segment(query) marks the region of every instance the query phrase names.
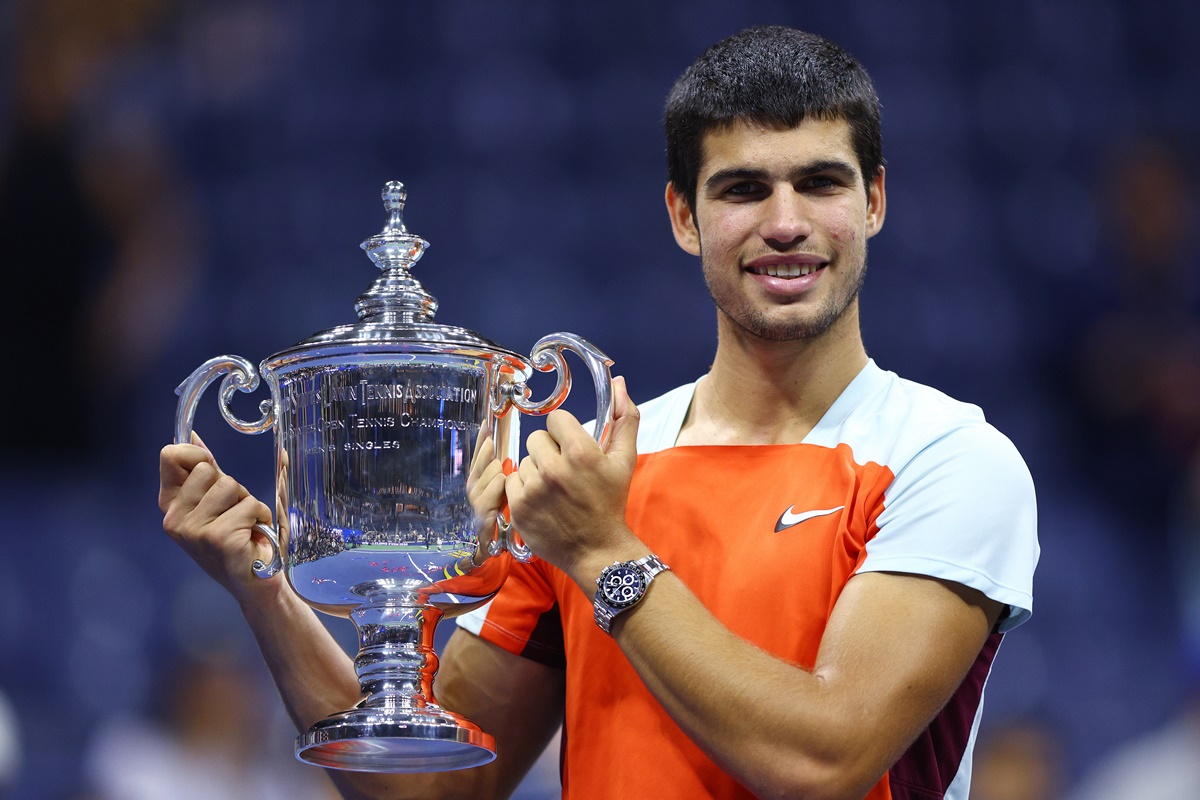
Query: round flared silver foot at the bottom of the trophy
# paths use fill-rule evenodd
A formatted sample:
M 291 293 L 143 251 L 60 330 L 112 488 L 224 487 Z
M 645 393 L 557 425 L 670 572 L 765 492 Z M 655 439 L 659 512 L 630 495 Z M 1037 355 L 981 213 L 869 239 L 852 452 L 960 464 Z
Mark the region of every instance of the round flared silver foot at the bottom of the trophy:
M 487 764 L 496 758 L 496 740 L 440 709 L 354 709 L 298 736 L 296 758 L 360 772 L 444 772 Z

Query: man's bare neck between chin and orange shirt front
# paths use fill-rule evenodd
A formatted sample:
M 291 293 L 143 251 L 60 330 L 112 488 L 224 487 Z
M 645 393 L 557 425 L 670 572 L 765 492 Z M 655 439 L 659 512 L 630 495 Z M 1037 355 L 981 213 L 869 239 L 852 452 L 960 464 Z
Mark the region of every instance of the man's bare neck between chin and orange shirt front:
M 857 313 L 822 336 L 773 342 L 721 319 L 679 445 L 798 444 L 866 366 Z

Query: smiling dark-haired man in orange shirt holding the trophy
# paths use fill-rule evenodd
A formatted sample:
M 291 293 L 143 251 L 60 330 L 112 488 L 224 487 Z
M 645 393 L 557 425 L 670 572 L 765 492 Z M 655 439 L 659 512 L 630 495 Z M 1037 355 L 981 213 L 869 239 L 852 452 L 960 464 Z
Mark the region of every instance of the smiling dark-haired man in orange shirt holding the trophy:
M 571 798 L 967 795 L 984 680 L 1032 608 L 1033 487 L 978 409 L 866 356 L 870 79 L 820 37 L 752 29 L 684 73 L 666 126 L 713 367 L 641 413 L 618 381 L 606 452 L 554 413 L 511 475 L 476 463 L 476 505 L 506 495 L 541 557 L 442 661 L 439 698 L 499 756 L 335 775 L 348 796 L 504 796 L 564 710 Z M 200 447 L 167 447 L 162 476 L 164 527 L 241 601 L 298 723 L 356 702 L 312 612 L 248 575 L 268 509 Z

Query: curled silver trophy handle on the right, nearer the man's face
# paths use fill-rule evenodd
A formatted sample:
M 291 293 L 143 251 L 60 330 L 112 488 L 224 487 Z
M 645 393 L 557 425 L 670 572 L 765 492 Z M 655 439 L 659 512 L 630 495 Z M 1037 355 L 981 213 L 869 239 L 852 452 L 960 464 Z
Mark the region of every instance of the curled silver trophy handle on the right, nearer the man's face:
M 538 339 L 538 343 L 533 347 L 533 353 L 529 354 L 529 362 L 538 372 L 556 371 L 558 373 L 558 383 L 554 385 L 554 391 L 550 393 L 550 397 L 540 403 L 529 402 L 530 391 L 524 381 L 516 383 L 510 390 L 512 404 L 522 413 L 534 416 L 550 414 L 563 404 L 563 401 L 566 399 L 566 396 L 571 391 L 571 369 L 563 357 L 563 350 L 570 350 L 583 359 L 588 372 L 592 373 L 592 383 L 596 392 L 596 420 L 592 428 L 592 435 L 601 450 L 607 450 L 608 441 L 612 439 L 612 372 L 608 369 L 612 366 L 612 359 L 581 336 L 576 336 L 575 333 L 550 333 Z M 505 519 L 503 513 L 497 522 L 500 527 L 502 541 L 505 542 L 509 552 L 512 553 L 512 558 L 518 561 L 532 560 L 533 551 L 521 541 L 521 535 L 512 527 L 512 523 Z

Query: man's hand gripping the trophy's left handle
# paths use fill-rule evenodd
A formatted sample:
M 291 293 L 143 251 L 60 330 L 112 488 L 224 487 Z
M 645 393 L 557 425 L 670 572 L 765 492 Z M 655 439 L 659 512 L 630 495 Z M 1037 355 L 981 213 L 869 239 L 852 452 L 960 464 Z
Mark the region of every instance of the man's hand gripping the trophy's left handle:
M 168 445 L 158 457 L 163 529 L 239 602 L 277 590 L 278 578 L 263 581 L 251 571 L 254 559 L 271 560 L 270 542 L 254 530 L 256 523 L 271 523 L 271 510 L 222 473 L 192 435 L 196 444 Z

